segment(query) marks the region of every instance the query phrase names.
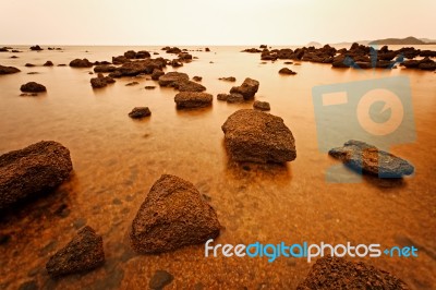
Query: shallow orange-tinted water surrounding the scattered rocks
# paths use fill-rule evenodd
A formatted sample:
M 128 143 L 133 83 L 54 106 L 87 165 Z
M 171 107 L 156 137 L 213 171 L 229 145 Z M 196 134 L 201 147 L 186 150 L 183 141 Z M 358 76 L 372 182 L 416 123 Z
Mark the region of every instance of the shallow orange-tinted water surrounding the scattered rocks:
M 177 111 L 175 92 L 159 88 L 146 77 L 117 80 L 93 90 L 89 69 L 41 67 L 47 60 L 57 65 L 85 57 L 110 61 L 111 56 L 129 49 L 157 51 L 170 58 L 160 47 L 22 49 L 25 52 L 0 53 L 0 64 L 22 70 L 0 76 L 0 154 L 41 140 L 58 141 L 70 149 L 74 173 L 55 193 L 3 215 L 0 233 L 11 239 L 0 245 L 0 289 L 15 289 L 28 280 L 44 289 L 144 288 L 157 269 L 174 276 L 168 289 L 293 289 L 304 279 L 311 267 L 305 259 L 279 257 L 268 263 L 266 258 L 205 258 L 203 245 L 160 255 L 133 253 L 131 222 L 162 173 L 190 180 L 210 197 L 225 227 L 217 243 L 413 243 L 420 247 L 417 258 L 382 256 L 365 261 L 403 279 L 412 289 L 436 289 L 435 73 L 402 68 L 362 73 L 308 62 L 263 64 L 259 55 L 241 53 L 241 47 L 192 52 L 198 60 L 177 71 L 203 76 L 202 84 L 215 96 L 229 92 L 246 76 L 258 80 L 256 98 L 269 101 L 271 113 L 281 117 L 293 132 L 298 150 L 294 161 L 286 167 L 250 165 L 246 170 L 229 161 L 220 126 L 228 116 L 251 108 L 251 104 L 228 105 L 214 99 L 209 109 Z M 10 59 L 12 55 L 19 59 Z M 27 62 L 38 67 L 25 68 Z M 282 67 L 298 75 L 279 75 Z M 218 80 L 231 75 L 237 83 Z M 415 174 L 403 181 L 365 177 L 360 183 L 327 182 L 327 168 L 338 162 L 318 148 L 312 88 L 389 76 L 407 76 L 411 83 L 416 140 L 391 146 L 390 152 L 411 161 Z M 20 86 L 29 81 L 46 85 L 48 93 L 19 97 Z M 125 86 L 132 81 L 140 85 Z M 146 90 L 146 85 L 157 87 Z M 148 106 L 152 117 L 130 119 L 128 113 L 136 106 Z M 347 122 L 355 112 L 341 113 Z M 353 129 L 340 133 L 344 142 L 353 135 Z M 86 275 L 51 280 L 45 264 L 83 225 L 102 234 L 106 265 Z

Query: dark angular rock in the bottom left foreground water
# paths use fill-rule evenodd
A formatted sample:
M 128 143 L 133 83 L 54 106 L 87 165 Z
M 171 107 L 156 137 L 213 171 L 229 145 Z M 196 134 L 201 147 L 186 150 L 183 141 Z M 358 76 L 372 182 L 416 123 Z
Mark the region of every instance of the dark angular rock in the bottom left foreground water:
M 46 265 L 51 277 L 84 273 L 105 264 L 102 238 L 86 226 L 73 240 L 50 257 Z

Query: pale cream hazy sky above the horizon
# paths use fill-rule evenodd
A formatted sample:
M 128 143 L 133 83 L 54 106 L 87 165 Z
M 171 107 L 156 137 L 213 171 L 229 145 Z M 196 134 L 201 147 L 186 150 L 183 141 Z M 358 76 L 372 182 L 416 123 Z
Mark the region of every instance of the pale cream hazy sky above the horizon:
M 436 0 L 0 0 L 2 45 L 305 45 L 436 38 Z

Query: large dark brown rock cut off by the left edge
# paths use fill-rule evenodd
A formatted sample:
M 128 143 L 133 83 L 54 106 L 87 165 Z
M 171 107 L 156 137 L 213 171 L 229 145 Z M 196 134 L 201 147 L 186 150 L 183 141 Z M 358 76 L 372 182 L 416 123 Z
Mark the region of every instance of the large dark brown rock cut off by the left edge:
M 70 150 L 43 141 L 0 156 L 0 208 L 60 185 L 70 177 Z

